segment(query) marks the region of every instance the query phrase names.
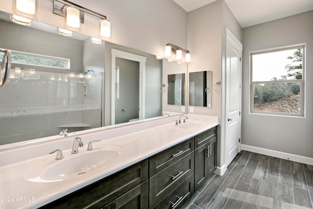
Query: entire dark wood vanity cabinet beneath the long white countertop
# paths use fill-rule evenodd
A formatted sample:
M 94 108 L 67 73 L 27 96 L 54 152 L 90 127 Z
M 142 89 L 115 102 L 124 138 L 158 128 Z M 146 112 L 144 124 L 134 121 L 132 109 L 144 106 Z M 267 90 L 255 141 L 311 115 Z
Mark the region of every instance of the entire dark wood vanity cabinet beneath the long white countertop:
M 209 129 L 43 209 L 179 209 L 217 165 L 217 128 Z

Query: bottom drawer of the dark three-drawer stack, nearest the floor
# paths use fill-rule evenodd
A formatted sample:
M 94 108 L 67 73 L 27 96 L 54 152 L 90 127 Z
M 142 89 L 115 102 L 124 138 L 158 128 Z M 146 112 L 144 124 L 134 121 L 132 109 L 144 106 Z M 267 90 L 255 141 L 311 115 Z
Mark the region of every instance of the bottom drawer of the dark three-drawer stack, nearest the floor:
M 179 209 L 194 193 L 194 175 L 190 175 L 153 209 Z

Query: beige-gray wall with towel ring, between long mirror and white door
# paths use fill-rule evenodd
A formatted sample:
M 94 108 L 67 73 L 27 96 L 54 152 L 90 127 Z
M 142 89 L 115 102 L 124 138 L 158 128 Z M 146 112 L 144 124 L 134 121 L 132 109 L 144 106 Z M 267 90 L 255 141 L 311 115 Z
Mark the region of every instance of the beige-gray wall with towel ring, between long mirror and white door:
M 212 85 L 223 81 L 225 55 L 225 27 L 228 27 L 239 41 L 243 41 L 240 24 L 224 0 L 217 0 L 188 13 L 188 49 L 192 54 L 189 72 L 212 70 Z M 223 90 L 224 91 L 224 90 Z M 212 92 L 212 107 L 194 107 L 194 113 L 219 116 L 218 166 L 225 163 L 225 140 L 222 126 L 222 93 Z

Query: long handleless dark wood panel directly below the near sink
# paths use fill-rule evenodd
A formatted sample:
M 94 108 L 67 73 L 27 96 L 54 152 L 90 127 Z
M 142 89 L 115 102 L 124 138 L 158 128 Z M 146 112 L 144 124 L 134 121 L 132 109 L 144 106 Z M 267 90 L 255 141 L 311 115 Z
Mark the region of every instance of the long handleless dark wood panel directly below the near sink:
M 68 194 L 42 208 L 102 208 L 148 179 L 148 160 Z

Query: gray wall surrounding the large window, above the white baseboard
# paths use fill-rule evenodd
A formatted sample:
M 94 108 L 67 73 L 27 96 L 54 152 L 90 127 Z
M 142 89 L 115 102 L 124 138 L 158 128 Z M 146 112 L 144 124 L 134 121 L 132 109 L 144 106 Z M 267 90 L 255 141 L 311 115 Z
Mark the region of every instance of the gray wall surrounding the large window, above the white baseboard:
M 244 28 L 242 144 L 313 158 L 313 11 Z M 249 113 L 249 53 L 306 45 L 305 117 Z

